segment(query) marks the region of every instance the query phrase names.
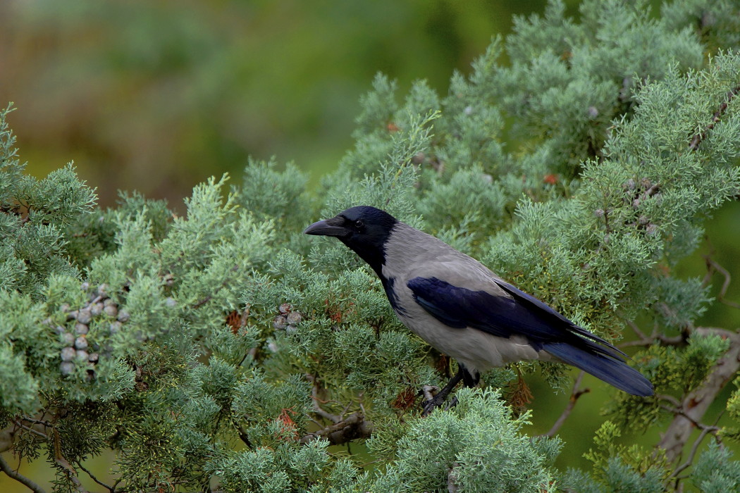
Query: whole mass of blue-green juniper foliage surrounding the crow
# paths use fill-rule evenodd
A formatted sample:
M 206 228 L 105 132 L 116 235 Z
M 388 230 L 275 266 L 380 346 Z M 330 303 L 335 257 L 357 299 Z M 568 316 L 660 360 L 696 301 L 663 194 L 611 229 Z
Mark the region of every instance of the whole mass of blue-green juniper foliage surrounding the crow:
M 28 177 L 0 112 L 0 423 L 51 437 L 22 432 L 13 451 L 45 449 L 71 487 L 60 457 L 79 466 L 110 446 L 131 491 L 214 478 L 233 492 L 675 484 L 676 464 L 625 446 L 622 429 L 672 417 L 665 403 L 702 386 L 727 340 L 693 333 L 636 353 L 662 397 L 615 391 L 593 474 L 562 475 L 561 441 L 529 438 L 528 415 L 499 392 L 460 390 L 450 412 L 420 418 L 418 391 L 444 383 L 447 361 L 400 325 L 360 259 L 301 231 L 374 205 L 608 339 L 637 316 L 656 340 L 689 333 L 710 298 L 673 268 L 740 190 L 737 10 L 696 0 L 653 18 L 644 2 L 586 1 L 576 22 L 552 1 L 454 74 L 448 95 L 420 81 L 400 98 L 378 75 L 354 148 L 316 190 L 295 166 L 253 160 L 228 190 L 227 177 L 196 186 L 181 217 L 139 194 L 99 210 L 70 166 Z M 517 369 L 537 368 L 566 384 L 556 364 Z M 41 411 L 51 417 L 36 423 Z M 350 416 L 369 456 L 314 439 Z M 710 447 L 692 480 L 731 491 L 736 465 Z

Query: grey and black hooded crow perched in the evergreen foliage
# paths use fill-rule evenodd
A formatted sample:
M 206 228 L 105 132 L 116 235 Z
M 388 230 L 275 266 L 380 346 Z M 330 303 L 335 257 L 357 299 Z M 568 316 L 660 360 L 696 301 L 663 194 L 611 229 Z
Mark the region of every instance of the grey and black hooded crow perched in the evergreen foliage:
M 400 322 L 457 360 L 457 373 L 423 403 L 423 415 L 460 381 L 476 387 L 482 373 L 522 360 L 570 364 L 631 395 L 653 395 L 653 384 L 613 344 L 386 211 L 357 205 L 303 233 L 335 237 L 354 251 L 380 278 Z

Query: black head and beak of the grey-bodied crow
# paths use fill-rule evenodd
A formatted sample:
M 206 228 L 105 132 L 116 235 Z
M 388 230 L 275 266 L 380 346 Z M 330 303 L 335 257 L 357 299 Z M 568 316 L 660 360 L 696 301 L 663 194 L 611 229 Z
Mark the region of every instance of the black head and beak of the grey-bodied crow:
M 332 219 L 314 222 L 303 233 L 337 237 L 382 276 L 380 268 L 385 263 L 384 245 L 397 222 L 386 211 L 369 205 L 357 205 Z

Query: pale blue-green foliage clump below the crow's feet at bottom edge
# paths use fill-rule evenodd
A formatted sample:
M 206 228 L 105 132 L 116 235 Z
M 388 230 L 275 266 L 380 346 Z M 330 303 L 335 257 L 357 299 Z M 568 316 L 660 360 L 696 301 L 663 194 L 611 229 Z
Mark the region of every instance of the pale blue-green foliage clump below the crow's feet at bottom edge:
M 460 404 L 450 412 L 415 421 L 397 443 L 397 459 L 369 491 L 555 491 L 550 467 L 559 441 L 522 435 L 527 416 L 513 418 L 500 397 L 460 390 Z

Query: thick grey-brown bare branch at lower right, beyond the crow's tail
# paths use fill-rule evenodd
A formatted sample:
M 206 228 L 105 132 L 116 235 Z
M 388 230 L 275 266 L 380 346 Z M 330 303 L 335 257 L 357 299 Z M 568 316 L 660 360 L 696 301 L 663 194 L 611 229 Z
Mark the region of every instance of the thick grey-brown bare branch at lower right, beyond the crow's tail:
M 666 458 L 670 461 L 679 458 L 696 424 L 702 421 L 710 404 L 740 369 L 740 334 L 714 327 L 699 327 L 696 332 L 722 336 L 730 341 L 730 347 L 716 362 L 704 384 L 689 392 L 679 403 L 678 409 L 673 409 L 676 416 L 657 445 L 665 450 Z

